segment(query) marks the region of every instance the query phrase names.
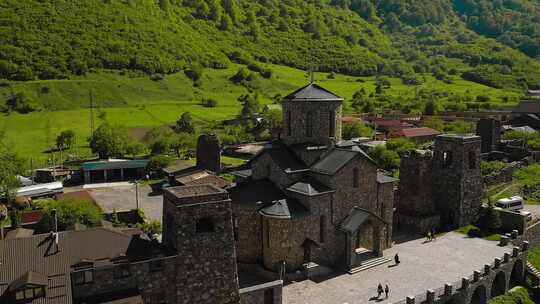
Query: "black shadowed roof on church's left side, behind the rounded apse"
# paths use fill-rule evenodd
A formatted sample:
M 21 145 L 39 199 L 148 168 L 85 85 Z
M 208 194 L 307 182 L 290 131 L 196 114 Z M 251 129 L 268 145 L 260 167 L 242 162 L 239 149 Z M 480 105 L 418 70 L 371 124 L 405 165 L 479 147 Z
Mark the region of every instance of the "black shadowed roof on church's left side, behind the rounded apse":
M 267 179 L 249 180 L 237 184 L 228 191 L 233 204 L 254 207 L 262 207 L 263 203 L 271 203 L 285 198 L 285 194 Z

